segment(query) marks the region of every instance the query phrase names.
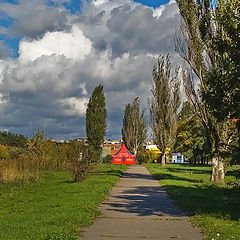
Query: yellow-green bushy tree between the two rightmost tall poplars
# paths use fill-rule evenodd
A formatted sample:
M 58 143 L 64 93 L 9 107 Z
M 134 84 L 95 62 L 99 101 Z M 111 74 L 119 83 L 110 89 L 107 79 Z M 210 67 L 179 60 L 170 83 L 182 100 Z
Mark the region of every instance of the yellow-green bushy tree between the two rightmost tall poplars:
M 205 129 L 188 101 L 183 103 L 177 123 L 176 152 L 181 152 L 190 161 L 210 154 Z

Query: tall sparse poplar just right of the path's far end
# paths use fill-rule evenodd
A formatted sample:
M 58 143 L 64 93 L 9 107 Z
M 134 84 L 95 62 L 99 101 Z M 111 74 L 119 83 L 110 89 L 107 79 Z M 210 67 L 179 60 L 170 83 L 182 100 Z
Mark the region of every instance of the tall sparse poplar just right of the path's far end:
M 153 68 L 153 88 L 150 99 L 150 118 L 154 141 L 162 151 L 165 165 L 167 148 L 172 149 L 176 141 L 177 110 L 180 105 L 178 70 L 171 76 L 170 57 L 160 56 Z

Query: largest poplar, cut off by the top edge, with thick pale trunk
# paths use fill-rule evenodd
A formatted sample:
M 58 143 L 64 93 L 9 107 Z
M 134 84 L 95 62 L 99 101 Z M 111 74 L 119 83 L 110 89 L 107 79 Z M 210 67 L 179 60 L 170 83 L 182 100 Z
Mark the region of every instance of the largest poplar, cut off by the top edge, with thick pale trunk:
M 223 182 L 225 163 L 240 149 L 240 1 L 176 2 L 182 16 L 176 50 L 186 63 L 185 92 L 211 143 L 211 179 Z

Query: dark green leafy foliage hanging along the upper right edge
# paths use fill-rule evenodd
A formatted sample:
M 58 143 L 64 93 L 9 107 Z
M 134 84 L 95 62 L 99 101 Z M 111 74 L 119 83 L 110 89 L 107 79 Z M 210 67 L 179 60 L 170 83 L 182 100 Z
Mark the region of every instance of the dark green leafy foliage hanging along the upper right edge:
M 217 4 L 207 21 L 218 27 L 204 34 L 205 44 L 211 42 L 217 56 L 205 73 L 204 99 L 215 118 L 223 121 L 229 115 L 240 117 L 240 2 L 218 0 Z

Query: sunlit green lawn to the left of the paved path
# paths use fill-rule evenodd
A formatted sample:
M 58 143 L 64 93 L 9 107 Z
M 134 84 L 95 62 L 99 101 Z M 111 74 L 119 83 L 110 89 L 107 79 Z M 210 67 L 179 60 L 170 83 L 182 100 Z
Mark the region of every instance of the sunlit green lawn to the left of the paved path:
M 82 183 L 69 172 L 48 171 L 25 185 L 0 184 L 0 240 L 77 239 L 125 169 L 100 165 Z

